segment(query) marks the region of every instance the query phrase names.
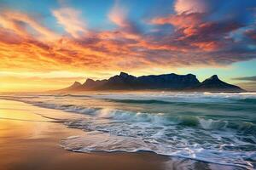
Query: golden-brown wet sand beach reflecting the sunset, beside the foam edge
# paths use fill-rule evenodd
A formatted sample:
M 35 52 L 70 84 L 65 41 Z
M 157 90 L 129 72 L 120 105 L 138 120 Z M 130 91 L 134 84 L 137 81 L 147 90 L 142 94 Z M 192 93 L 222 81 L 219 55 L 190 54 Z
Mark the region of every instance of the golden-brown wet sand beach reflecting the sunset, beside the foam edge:
M 65 127 L 40 113 L 67 113 L 16 101 L 0 100 L 0 170 L 43 169 L 232 169 L 201 161 L 158 156 L 154 153 L 76 153 L 61 148 L 60 140 L 85 133 Z M 70 113 L 68 113 L 70 114 Z

